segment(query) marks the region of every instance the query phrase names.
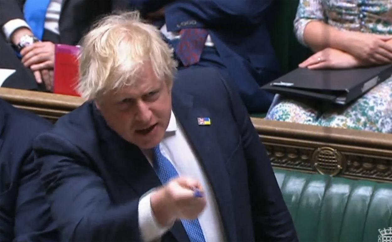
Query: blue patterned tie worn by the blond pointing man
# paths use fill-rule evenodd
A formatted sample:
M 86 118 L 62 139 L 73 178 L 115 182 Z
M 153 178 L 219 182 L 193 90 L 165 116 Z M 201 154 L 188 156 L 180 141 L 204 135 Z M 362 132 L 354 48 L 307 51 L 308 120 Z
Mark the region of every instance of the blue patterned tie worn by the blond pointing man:
M 153 151 L 155 156 L 155 163 L 153 167 L 162 184 L 166 184 L 171 179 L 178 177 L 176 168 L 174 168 L 169 159 L 162 155 L 159 145 L 154 147 Z M 181 219 L 181 223 L 184 226 L 191 242 L 205 242 L 203 230 L 201 230 L 198 219 Z

